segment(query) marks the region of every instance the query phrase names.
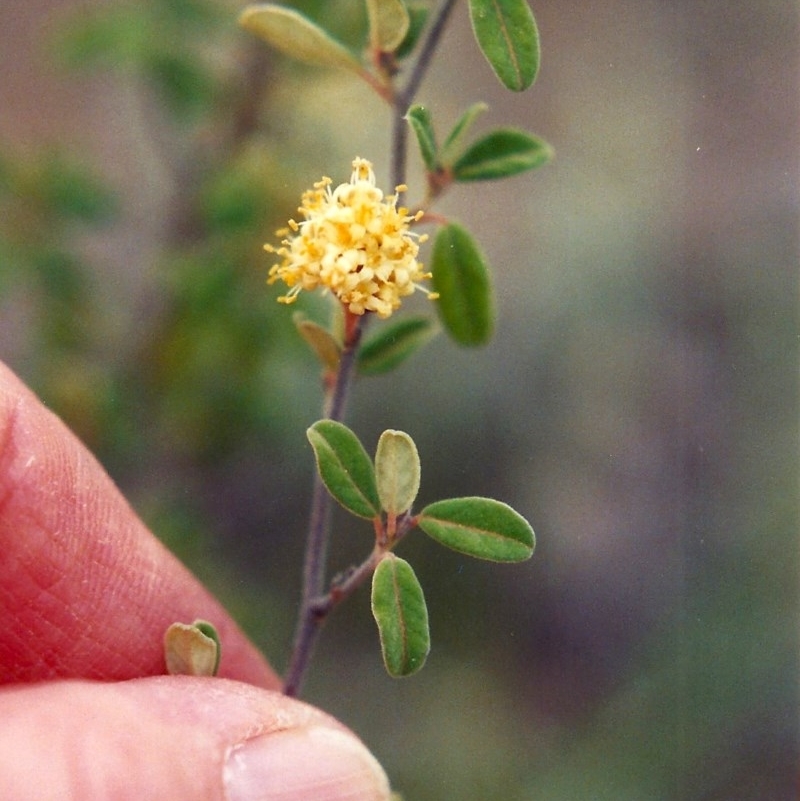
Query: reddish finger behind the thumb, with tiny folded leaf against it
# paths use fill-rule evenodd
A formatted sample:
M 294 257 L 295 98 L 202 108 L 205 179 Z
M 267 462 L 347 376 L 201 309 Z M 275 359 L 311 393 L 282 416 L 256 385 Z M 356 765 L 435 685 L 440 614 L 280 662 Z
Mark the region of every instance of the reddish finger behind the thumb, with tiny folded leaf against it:
M 147 530 L 97 460 L 0 363 L 0 684 L 164 672 L 163 636 L 207 619 L 220 674 L 280 681 Z

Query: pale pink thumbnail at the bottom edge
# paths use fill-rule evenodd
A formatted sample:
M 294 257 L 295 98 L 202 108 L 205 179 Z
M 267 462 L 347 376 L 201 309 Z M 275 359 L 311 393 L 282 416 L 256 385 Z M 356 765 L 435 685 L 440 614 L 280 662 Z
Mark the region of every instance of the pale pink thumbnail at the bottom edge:
M 336 729 L 262 734 L 236 746 L 225 763 L 228 801 L 388 801 L 375 757 Z

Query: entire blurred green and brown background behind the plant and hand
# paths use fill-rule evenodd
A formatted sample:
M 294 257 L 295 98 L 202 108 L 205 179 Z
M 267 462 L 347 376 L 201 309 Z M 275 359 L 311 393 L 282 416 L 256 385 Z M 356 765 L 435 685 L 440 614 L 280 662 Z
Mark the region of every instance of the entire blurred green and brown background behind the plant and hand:
M 302 7 L 359 41 L 355 0 Z M 306 697 L 408 801 L 795 798 L 798 7 L 533 8 L 531 90 L 499 87 L 461 4 L 419 97 L 441 130 L 486 100 L 487 127 L 556 148 L 441 207 L 494 266 L 497 336 L 364 380 L 350 421 L 370 445 L 408 431 L 422 502 L 501 498 L 537 552 L 484 565 L 413 537 L 425 670 L 385 675 L 361 592 Z M 238 10 L 4 5 L 0 356 L 281 669 L 319 370 L 261 244 L 356 155 L 390 188 L 388 113 Z M 337 520 L 334 569 L 371 537 Z

